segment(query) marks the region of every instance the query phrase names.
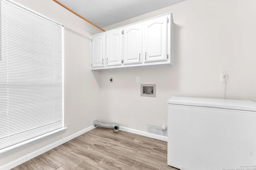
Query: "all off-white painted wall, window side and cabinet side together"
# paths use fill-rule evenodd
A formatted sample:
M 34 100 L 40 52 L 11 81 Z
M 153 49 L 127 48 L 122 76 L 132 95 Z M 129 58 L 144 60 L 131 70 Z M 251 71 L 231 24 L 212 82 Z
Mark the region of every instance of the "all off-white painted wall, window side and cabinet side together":
M 100 32 L 52 0 L 15 0 L 64 25 L 65 125 L 58 135 L 0 156 L 4 164 L 92 125 L 94 119 L 146 131 L 167 124 L 171 96 L 222 98 L 220 73 L 229 74 L 227 98 L 256 102 L 256 2 L 187 0 L 110 29 L 173 12 L 174 66 L 90 71 L 90 35 Z M 142 84 L 156 84 L 156 98 L 140 97 Z M 109 78 L 113 77 L 113 83 Z

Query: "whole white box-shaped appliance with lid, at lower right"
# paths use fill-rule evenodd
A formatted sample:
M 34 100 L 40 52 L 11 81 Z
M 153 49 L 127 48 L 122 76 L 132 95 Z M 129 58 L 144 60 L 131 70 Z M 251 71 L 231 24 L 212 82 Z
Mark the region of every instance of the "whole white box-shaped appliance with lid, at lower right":
M 170 98 L 168 165 L 181 170 L 256 170 L 256 103 Z

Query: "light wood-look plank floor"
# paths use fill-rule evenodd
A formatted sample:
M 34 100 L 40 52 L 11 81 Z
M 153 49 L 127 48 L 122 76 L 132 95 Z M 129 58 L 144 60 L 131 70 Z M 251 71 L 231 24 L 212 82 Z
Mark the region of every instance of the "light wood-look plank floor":
M 178 170 L 167 165 L 167 142 L 97 127 L 13 170 Z

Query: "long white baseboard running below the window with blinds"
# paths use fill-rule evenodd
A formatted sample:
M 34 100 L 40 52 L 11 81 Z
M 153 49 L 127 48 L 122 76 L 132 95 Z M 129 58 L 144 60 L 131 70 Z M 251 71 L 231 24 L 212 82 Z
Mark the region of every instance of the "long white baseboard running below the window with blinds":
M 63 143 L 66 143 L 67 141 L 70 141 L 71 139 L 74 139 L 75 137 L 78 137 L 78 136 L 82 135 L 83 133 L 86 133 L 94 128 L 95 128 L 94 126 L 87 127 L 86 129 L 83 129 L 82 131 L 79 131 L 77 133 L 74 133 L 73 135 L 65 137 L 64 139 L 61 139 L 60 141 L 57 141 L 57 142 L 52 143 L 46 147 L 38 149 L 30 154 L 22 156 L 21 158 L 18 158 L 8 164 L 5 164 L 4 166 L 0 166 L 0 170 L 10 170 L 11 168 L 14 168 L 20 164 L 23 164 L 24 162 L 26 162 L 40 154 L 43 154 L 44 152 L 47 152 L 48 150 L 54 149 L 55 147 L 58 147 L 59 145 L 62 145 Z

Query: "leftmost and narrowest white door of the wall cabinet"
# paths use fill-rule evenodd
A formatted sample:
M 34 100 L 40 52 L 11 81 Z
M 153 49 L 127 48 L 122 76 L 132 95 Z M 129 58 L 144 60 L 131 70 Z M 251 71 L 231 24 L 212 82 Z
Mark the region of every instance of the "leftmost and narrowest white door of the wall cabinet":
M 105 35 L 92 38 L 92 67 L 105 66 Z

